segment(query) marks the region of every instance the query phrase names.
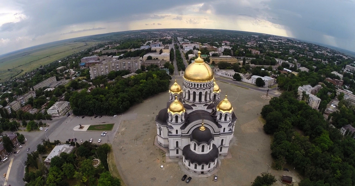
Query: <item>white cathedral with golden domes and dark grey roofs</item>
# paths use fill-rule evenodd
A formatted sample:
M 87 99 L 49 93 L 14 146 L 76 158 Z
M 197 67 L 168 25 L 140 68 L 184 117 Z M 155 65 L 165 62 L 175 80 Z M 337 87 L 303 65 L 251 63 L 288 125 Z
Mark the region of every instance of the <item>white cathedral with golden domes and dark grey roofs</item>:
M 206 174 L 217 166 L 219 156 L 228 154 L 236 119 L 198 52 L 185 70 L 182 88 L 175 80 L 166 108 L 155 117 L 158 145 L 169 149 L 170 159 L 182 158 L 187 170 Z

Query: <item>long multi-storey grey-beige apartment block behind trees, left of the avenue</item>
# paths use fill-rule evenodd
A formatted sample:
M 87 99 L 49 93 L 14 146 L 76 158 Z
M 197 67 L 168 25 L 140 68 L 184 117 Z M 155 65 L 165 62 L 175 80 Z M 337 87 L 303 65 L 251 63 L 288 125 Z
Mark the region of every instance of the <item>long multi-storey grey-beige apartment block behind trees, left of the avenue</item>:
M 128 70 L 136 72 L 138 69 L 141 69 L 140 57 L 122 58 L 90 66 L 90 77 L 94 79 L 100 75 L 107 75 L 111 71 Z

